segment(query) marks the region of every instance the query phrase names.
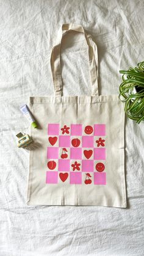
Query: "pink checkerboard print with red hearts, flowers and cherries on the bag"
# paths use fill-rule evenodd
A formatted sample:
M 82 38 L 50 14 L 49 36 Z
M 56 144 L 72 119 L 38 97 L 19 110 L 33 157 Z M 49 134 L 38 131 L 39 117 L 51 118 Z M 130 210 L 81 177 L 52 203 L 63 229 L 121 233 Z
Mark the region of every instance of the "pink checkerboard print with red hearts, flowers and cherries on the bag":
M 106 185 L 106 125 L 48 124 L 46 183 Z

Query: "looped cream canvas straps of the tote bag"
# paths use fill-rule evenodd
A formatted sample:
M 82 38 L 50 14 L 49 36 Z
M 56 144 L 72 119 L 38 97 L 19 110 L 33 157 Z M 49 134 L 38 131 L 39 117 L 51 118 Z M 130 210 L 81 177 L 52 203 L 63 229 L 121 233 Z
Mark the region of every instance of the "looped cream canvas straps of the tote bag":
M 77 24 L 63 24 L 58 32 L 56 46 L 51 52 L 51 71 L 54 83 L 54 91 L 56 96 L 62 96 L 62 71 L 60 65 L 60 48 L 63 35 L 70 31 L 77 31 L 84 34 L 88 45 L 90 76 L 92 81 L 92 96 L 98 95 L 98 52 L 95 42 L 91 35 L 87 35 L 84 28 Z

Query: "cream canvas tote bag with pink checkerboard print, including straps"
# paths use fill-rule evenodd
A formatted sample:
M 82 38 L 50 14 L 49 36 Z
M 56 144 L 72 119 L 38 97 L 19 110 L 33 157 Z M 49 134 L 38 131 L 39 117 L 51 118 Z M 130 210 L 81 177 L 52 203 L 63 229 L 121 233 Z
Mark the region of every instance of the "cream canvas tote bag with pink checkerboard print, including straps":
M 62 93 L 60 47 L 71 31 L 87 44 L 92 96 Z M 31 136 L 39 147 L 30 152 L 27 205 L 125 208 L 124 105 L 118 95 L 99 95 L 96 44 L 81 25 L 60 27 L 51 70 L 55 95 L 29 101 L 39 125 Z

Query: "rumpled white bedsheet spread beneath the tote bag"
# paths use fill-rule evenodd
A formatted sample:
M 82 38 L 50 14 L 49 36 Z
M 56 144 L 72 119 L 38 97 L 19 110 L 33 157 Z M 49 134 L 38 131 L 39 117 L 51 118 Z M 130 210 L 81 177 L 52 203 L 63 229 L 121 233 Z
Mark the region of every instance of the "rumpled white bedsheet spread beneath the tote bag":
M 143 12 L 142 0 L 0 1 L 1 256 L 144 255 L 144 123 L 126 119 L 126 209 L 27 206 L 29 152 L 15 144 L 16 133 L 29 132 L 21 103 L 53 93 L 49 59 L 60 25 L 79 23 L 93 35 L 100 93 L 114 94 L 118 71 L 144 60 Z M 90 94 L 87 58 L 77 57 L 85 67 L 71 65 L 67 52 L 65 95 Z

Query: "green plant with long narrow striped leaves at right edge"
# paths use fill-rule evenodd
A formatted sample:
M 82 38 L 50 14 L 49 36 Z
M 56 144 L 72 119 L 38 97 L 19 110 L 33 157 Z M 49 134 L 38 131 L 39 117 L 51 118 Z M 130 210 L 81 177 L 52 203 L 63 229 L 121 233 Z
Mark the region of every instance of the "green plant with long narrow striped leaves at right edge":
M 126 115 L 140 123 L 144 120 L 144 62 L 129 70 L 120 70 L 123 82 L 120 84 L 121 101 L 125 102 Z

